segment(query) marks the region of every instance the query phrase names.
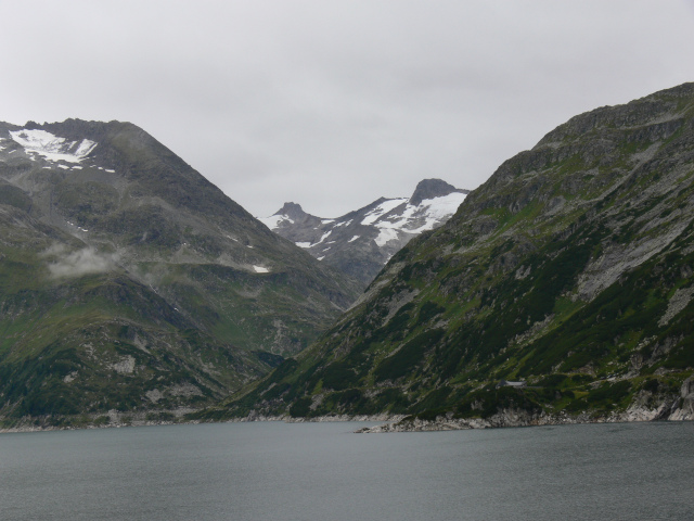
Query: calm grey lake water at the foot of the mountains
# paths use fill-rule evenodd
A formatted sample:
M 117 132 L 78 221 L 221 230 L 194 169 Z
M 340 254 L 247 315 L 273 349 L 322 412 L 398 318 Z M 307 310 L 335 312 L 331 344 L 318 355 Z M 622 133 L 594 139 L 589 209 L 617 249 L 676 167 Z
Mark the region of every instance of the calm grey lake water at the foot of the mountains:
M 0 435 L 3 520 L 694 519 L 694 423 L 351 434 L 226 423 Z

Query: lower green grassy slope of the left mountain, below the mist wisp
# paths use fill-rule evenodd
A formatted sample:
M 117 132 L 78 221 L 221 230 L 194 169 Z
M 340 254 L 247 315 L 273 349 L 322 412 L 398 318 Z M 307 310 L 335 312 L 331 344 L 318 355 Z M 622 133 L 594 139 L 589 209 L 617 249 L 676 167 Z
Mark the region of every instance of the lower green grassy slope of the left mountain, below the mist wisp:
M 267 361 L 198 330 L 121 269 L 52 277 L 40 252 L 61 236 L 46 236 L 46 227 L 26 214 L 2 206 L 0 227 L 5 423 L 26 416 L 200 406 L 267 371 Z M 158 393 L 154 402 L 147 392 Z

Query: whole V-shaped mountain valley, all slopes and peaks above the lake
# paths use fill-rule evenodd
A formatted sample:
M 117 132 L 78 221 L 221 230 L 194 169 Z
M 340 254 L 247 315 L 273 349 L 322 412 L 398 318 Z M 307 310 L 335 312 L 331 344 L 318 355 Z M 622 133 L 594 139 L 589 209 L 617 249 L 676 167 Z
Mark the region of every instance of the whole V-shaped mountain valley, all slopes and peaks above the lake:
M 133 125 L 0 124 L 2 427 L 694 419 L 694 84 L 262 221 Z

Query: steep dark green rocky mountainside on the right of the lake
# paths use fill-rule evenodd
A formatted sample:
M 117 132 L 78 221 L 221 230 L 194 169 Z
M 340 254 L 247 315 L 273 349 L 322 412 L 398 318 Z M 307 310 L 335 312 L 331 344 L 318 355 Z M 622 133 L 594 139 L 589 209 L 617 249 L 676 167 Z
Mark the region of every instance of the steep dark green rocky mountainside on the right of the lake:
M 694 84 L 576 116 L 209 417 L 694 418 Z

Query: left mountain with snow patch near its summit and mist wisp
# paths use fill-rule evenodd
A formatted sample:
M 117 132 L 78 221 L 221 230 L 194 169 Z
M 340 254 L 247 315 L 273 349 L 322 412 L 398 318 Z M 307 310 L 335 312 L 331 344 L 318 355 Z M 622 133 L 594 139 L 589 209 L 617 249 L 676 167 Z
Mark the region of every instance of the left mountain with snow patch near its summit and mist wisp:
M 0 259 L 5 423 L 209 404 L 358 294 L 119 122 L 0 123 Z

